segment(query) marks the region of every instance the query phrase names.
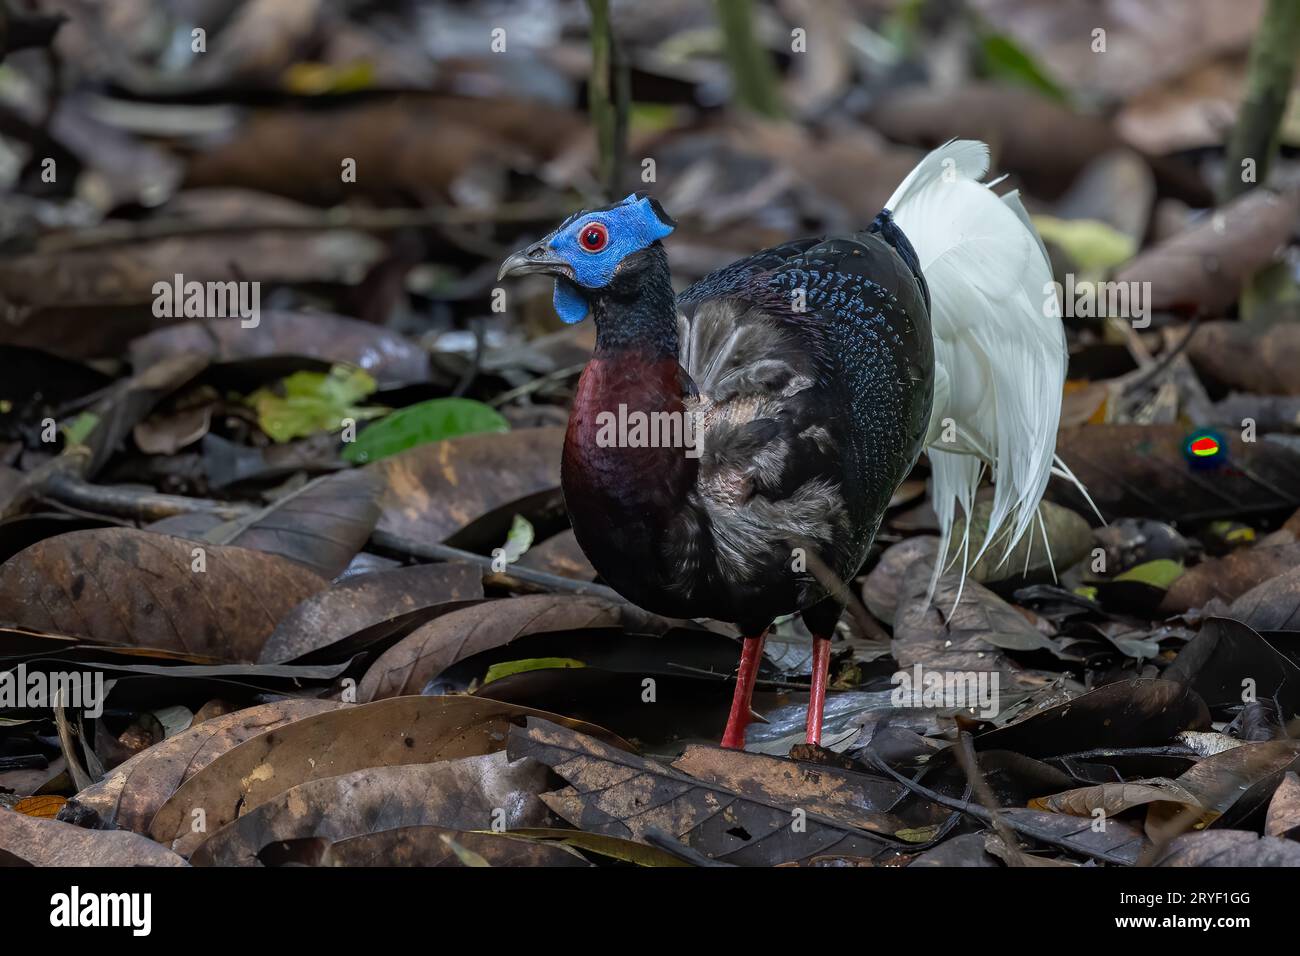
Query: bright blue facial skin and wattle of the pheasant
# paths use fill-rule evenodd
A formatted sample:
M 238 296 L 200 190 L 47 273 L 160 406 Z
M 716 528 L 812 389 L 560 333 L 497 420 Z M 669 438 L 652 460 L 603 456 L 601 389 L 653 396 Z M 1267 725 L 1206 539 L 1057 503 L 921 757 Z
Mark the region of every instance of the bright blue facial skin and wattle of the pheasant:
M 608 242 L 599 252 L 589 252 L 580 245 L 582 230 L 592 222 L 601 222 Z M 601 289 L 614 278 L 619 263 L 672 232 L 672 226 L 655 213 L 649 198 L 632 194 L 610 209 L 575 216 L 556 229 L 547 246 L 573 267 L 573 281 L 555 281 L 555 311 L 566 323 L 578 323 L 586 317 L 585 289 Z

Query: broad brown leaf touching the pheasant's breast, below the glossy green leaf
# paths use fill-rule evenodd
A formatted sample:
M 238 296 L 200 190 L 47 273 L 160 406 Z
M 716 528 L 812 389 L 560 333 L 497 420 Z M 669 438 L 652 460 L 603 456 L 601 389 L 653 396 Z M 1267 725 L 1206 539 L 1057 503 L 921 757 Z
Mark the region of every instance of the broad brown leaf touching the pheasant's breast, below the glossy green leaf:
M 563 428 L 467 434 L 365 466 L 384 479 L 377 528 L 443 541 L 494 509 L 560 484 Z

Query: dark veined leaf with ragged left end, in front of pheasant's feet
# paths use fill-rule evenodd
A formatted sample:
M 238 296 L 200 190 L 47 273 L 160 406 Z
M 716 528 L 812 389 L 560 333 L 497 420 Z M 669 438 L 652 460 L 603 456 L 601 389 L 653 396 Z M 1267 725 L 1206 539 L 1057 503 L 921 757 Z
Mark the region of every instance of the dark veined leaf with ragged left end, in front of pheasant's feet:
M 792 806 L 696 780 L 645 757 L 549 721 L 510 731 L 511 757 L 533 757 L 571 786 L 543 793 L 555 813 L 581 830 L 646 842 L 667 832 L 715 860 L 771 865 L 836 853 L 878 856 L 889 844 L 871 832 Z

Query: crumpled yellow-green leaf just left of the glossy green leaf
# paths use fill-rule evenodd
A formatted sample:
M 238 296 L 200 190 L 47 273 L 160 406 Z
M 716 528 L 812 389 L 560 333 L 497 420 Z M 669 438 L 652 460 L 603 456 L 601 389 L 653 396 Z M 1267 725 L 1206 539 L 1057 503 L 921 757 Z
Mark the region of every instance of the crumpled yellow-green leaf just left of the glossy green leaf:
M 244 402 L 257 411 L 257 424 L 272 441 L 286 442 L 334 432 L 344 419 L 373 419 L 387 408 L 356 405 L 376 389 L 374 378 L 351 365 L 329 375 L 294 372 L 273 389 L 257 389 Z

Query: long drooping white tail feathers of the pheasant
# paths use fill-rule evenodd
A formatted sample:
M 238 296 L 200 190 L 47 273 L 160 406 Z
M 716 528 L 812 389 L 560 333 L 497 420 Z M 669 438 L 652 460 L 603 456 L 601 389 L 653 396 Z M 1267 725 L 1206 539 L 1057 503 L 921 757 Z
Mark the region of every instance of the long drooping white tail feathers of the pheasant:
M 980 182 L 987 172 L 984 143 L 952 140 L 911 170 L 887 207 L 930 286 L 935 408 L 926 446 L 940 555 L 957 509 L 967 518 L 950 562 L 959 555 L 963 579 L 994 541 L 1005 540 L 1005 561 L 1030 532 L 1054 463 L 1078 484 L 1056 459 L 1066 342 L 1060 311 L 1046 307 L 1054 294 L 1046 250 L 1019 196 Z M 985 467 L 993 507 L 971 557 L 968 519 Z

